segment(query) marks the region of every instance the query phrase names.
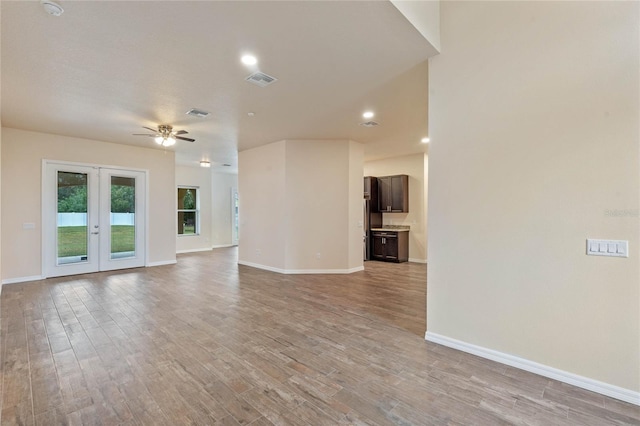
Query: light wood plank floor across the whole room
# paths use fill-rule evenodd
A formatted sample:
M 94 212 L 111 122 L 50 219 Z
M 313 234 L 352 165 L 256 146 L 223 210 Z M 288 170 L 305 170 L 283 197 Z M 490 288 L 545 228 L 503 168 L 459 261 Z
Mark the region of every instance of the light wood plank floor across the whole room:
M 286 276 L 235 249 L 6 285 L 1 423 L 640 424 L 640 408 L 427 343 L 425 265 Z

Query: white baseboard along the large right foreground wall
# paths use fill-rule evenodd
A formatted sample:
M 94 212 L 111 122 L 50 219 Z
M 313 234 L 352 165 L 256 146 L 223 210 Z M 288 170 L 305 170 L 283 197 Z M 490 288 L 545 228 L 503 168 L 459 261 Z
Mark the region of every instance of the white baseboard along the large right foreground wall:
M 429 331 L 425 333 L 424 338 L 429 342 L 438 343 L 443 346 L 458 349 L 462 352 L 467 352 L 482 358 L 510 365 L 511 367 L 516 367 L 521 370 L 539 374 L 541 376 L 558 380 L 563 383 L 568 383 L 582 389 L 587 389 L 592 392 L 610 396 L 611 398 L 619 399 L 630 404 L 640 405 L 640 392 L 621 388 L 615 385 L 610 385 L 608 383 L 600 382 L 598 380 L 590 379 L 588 377 L 580 376 L 568 371 L 549 367 L 548 365 L 539 364 L 528 359 L 505 354 L 493 349 L 484 348 L 482 346 L 476 346 L 470 343 L 463 342 L 461 340 L 456 340 L 450 337 L 442 336 L 440 334 L 431 333 Z

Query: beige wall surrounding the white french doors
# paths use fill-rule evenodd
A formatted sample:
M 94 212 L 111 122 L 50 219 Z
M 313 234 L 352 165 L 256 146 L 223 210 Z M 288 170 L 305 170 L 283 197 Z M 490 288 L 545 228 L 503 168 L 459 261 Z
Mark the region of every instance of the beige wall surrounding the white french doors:
M 150 264 L 175 261 L 173 152 L 2 128 L 2 279 L 37 277 L 41 260 L 42 160 L 148 170 Z M 35 229 L 23 229 L 35 223 Z

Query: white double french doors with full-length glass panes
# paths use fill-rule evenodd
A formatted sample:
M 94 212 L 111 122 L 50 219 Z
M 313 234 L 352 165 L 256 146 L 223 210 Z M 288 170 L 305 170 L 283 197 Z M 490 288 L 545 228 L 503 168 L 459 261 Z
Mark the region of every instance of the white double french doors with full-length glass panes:
M 45 161 L 46 277 L 145 265 L 146 173 Z

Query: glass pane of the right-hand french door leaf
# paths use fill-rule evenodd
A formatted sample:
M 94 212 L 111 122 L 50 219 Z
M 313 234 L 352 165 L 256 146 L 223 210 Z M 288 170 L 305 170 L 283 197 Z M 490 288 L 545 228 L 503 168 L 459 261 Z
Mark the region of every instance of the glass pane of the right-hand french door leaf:
M 111 176 L 111 259 L 136 254 L 136 179 Z

